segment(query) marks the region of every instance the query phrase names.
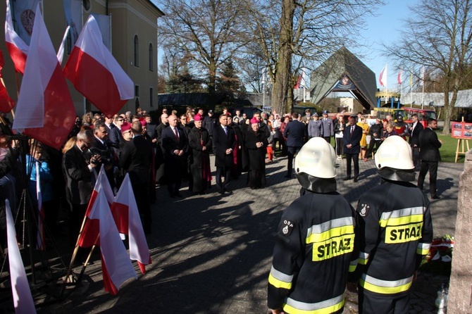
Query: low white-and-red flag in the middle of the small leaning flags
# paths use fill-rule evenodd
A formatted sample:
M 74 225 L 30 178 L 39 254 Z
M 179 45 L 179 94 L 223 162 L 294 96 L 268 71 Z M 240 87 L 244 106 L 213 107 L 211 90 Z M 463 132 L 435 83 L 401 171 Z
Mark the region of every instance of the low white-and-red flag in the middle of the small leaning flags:
M 97 199 L 95 199 L 89 219 L 99 221 L 101 270 L 105 291 L 116 295 L 123 282 L 130 278 L 137 279 L 137 276 L 113 221 L 110 206 L 108 206 L 103 190 L 99 191 Z

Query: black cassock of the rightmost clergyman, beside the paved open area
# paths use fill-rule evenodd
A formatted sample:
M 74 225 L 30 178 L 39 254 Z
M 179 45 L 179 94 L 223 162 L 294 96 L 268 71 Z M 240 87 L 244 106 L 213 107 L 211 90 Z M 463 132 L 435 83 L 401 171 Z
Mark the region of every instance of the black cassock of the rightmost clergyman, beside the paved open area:
M 266 147 L 268 145 L 266 134 L 263 131 L 248 130 L 245 139 L 247 153 L 249 155 L 249 187 L 259 188 L 266 186 Z M 262 142 L 263 146 L 257 148 L 256 143 Z

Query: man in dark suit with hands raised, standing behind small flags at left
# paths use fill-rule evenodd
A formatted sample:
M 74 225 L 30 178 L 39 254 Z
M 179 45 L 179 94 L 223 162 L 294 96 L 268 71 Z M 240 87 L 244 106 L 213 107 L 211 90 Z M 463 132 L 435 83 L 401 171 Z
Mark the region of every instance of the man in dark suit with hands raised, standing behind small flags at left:
M 66 198 L 70 203 L 69 244 L 75 246 L 80 226 L 87 211 L 94 186 L 94 168 L 99 165 L 101 157 L 94 155 L 85 157 L 93 141 L 92 130 L 77 133 L 77 142 L 73 148 L 64 153 L 62 159 L 63 174 L 66 177 Z

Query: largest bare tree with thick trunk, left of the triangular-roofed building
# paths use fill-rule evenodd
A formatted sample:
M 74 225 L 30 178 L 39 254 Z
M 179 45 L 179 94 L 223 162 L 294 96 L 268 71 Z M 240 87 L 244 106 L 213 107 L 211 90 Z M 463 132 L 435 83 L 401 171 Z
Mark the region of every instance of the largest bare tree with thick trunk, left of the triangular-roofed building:
M 239 1 L 238 1 L 239 2 Z M 382 0 L 244 0 L 247 25 L 261 46 L 273 82 L 272 106 L 292 107 L 294 73 L 320 64 L 342 45 L 358 45 L 359 30 Z

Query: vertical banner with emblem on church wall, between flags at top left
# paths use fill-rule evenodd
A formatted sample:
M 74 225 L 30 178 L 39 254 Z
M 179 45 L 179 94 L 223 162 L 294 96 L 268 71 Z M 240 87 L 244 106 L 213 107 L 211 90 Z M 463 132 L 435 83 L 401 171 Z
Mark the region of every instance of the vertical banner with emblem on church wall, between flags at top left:
M 23 42 L 30 46 L 33 25 L 35 24 L 35 12 L 39 0 L 11 0 L 11 15 L 16 34 Z

